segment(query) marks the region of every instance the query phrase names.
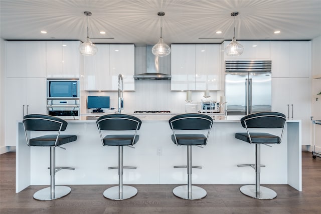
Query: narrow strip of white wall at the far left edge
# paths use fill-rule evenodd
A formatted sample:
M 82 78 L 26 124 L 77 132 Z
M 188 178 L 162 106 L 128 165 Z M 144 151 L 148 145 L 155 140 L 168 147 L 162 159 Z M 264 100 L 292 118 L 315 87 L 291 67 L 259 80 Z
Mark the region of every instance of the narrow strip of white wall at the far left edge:
M 0 154 L 5 152 L 5 41 L 0 38 Z

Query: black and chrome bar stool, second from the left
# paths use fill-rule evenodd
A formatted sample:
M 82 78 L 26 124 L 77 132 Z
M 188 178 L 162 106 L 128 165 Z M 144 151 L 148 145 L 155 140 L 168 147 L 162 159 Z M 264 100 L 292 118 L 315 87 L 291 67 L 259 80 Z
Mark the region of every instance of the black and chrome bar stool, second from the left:
M 123 185 L 123 169 L 136 169 L 133 166 L 123 166 L 123 146 L 132 147 L 139 140 L 137 130 L 140 129 L 141 120 L 135 116 L 127 114 L 107 114 L 99 117 L 96 121 L 101 142 L 103 146 L 118 146 L 118 167 L 108 167 L 108 169 L 118 168 L 118 186 L 106 189 L 104 197 L 112 200 L 128 199 L 137 194 L 137 189 L 133 186 Z M 109 134 L 102 136 L 102 130 L 105 131 L 132 131 L 133 134 Z M 133 147 L 132 147 L 133 148 Z

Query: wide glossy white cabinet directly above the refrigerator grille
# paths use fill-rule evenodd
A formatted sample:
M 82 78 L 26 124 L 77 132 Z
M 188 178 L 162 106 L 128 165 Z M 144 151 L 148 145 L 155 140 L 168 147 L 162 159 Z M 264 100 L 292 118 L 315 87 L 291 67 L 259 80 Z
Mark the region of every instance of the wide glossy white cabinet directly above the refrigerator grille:
M 230 44 L 231 41 L 225 41 L 224 47 Z M 270 59 L 270 42 L 268 41 L 238 41 L 243 47 L 244 51 L 239 56 L 225 56 L 225 59 L 232 60 L 251 60 L 251 59 Z

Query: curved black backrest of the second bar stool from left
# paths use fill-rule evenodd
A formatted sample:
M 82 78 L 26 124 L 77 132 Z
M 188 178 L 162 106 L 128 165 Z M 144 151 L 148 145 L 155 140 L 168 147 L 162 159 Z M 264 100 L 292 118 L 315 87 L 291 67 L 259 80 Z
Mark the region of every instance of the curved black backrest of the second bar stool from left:
M 141 120 L 128 114 L 106 114 L 96 121 L 99 130 L 125 131 L 139 130 Z

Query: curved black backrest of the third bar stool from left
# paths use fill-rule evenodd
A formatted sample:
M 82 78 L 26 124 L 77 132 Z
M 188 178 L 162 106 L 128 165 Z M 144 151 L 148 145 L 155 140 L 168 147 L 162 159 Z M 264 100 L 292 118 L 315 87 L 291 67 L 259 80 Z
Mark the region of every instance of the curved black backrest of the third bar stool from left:
M 212 128 L 213 119 L 206 114 L 187 113 L 172 117 L 169 123 L 172 130 L 203 130 Z

